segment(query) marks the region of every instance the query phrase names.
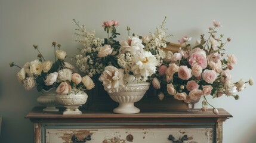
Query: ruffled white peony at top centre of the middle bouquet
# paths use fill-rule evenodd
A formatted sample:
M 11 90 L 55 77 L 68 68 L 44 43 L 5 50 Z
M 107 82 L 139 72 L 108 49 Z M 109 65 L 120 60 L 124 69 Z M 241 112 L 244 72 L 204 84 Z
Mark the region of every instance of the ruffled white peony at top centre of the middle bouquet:
M 121 48 L 119 49 L 119 52 L 121 54 L 130 52 L 131 54 L 140 54 L 143 52 L 143 48 L 145 47 L 142 44 L 142 41 L 140 38 L 133 37 L 128 38 L 126 40 L 120 41 Z

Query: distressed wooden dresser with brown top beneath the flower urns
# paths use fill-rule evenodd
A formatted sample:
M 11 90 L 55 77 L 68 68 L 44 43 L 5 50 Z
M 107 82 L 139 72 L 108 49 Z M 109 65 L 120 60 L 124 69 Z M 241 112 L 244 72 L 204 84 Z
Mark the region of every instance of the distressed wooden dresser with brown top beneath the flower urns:
M 223 122 L 232 117 L 224 109 L 218 109 L 218 115 L 211 110 L 142 110 L 138 114 L 81 110 L 81 115 L 63 115 L 33 108 L 26 118 L 34 123 L 35 143 L 222 142 Z

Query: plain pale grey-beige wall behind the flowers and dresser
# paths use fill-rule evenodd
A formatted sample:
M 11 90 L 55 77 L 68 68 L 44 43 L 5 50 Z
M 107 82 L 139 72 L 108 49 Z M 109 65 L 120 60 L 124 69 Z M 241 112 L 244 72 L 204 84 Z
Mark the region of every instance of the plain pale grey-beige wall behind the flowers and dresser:
M 72 19 L 85 24 L 88 30 L 95 29 L 97 36 L 106 37 L 102 21 L 118 20 L 118 32 L 125 38 L 125 28 L 146 35 L 158 27 L 165 15 L 168 17 L 169 39 L 177 43 L 181 36 L 193 40 L 207 32 L 212 20 L 221 21 L 218 32 L 231 37 L 227 53 L 235 54 L 238 64 L 232 71 L 234 80 L 240 77 L 256 80 L 255 5 L 253 0 L 195 0 L 195 1 L 36 1 L 0 0 L 0 116 L 2 132 L 0 142 L 33 142 L 33 125 L 24 116 L 35 106 L 38 92 L 24 91 L 17 82 L 16 68 L 9 66 L 14 61 L 23 66 L 38 54 L 32 45 L 37 44 L 46 58 L 53 58 L 51 42 L 63 45 L 69 55 L 76 53 L 79 45 L 75 40 L 75 24 Z M 225 108 L 234 117 L 224 123 L 225 143 L 256 142 L 255 86 L 248 86 L 240 93 L 240 100 L 222 97 L 211 100 L 216 107 Z M 200 107 L 200 104 L 198 104 Z

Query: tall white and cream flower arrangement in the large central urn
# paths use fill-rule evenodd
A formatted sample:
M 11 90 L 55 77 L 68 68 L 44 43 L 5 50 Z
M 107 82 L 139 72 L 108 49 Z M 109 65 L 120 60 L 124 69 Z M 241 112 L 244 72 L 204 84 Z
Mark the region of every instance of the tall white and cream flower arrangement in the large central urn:
M 76 54 L 76 66 L 95 81 L 100 80 L 109 93 L 119 92 L 119 87 L 128 82 L 150 82 L 165 57 L 160 49 L 166 46 L 163 24 L 149 36 L 130 36 L 131 28 L 127 27 L 128 38 L 121 41 L 116 41 L 120 35 L 116 32 L 119 26 L 116 20 L 103 22 L 107 33 L 104 39 L 95 37 L 94 31 L 88 32 L 77 21 L 75 24 L 76 35 L 81 37 L 77 41 L 83 45 Z

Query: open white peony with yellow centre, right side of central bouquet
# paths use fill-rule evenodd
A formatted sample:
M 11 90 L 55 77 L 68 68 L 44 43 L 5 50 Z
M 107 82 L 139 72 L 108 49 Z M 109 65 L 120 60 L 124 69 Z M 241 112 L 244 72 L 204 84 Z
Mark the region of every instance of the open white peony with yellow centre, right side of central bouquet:
M 156 72 L 156 66 L 158 66 L 158 60 L 151 54 L 151 52 L 145 51 L 140 55 L 135 54 L 132 59 L 134 64 L 131 67 L 135 76 L 148 77 L 152 76 Z

